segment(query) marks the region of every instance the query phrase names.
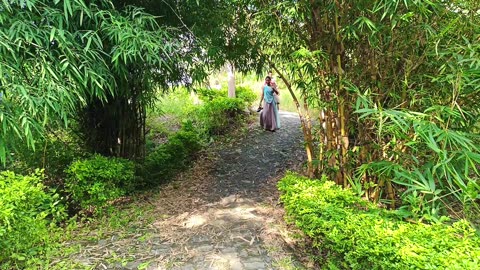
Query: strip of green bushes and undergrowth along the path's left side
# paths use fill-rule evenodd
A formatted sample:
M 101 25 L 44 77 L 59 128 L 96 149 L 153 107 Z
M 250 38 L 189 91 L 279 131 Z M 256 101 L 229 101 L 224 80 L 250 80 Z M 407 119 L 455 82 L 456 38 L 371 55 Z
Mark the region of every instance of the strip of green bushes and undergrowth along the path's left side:
M 148 152 L 142 161 L 103 157 L 81 149 L 70 152 L 65 147 L 68 134 L 62 140 L 46 137 L 44 151 L 15 157 L 9 168 L 27 172 L 32 166 L 44 166 L 49 174 L 48 178 L 40 172 L 0 174 L 0 269 L 47 269 L 53 264 L 55 268 L 85 268 L 68 260 L 79 247 L 62 242 L 75 241 L 79 231 L 88 231 L 93 224 L 107 222 L 108 226 L 98 230 L 92 240 L 106 237 L 111 228 L 131 224 L 132 218 L 143 214 L 132 209 L 120 211 L 122 202 L 174 179 L 214 138 L 238 130 L 248 119 L 245 108 L 255 99 L 251 90 L 240 88 L 234 99 L 222 93 L 212 92 L 219 96 L 195 103 L 189 93 L 179 91 L 172 95 L 172 103 L 164 104 L 163 111 L 150 111 Z M 162 116 L 167 117 L 158 119 Z M 161 140 L 155 140 L 158 134 Z M 18 160 L 21 157 L 28 159 Z

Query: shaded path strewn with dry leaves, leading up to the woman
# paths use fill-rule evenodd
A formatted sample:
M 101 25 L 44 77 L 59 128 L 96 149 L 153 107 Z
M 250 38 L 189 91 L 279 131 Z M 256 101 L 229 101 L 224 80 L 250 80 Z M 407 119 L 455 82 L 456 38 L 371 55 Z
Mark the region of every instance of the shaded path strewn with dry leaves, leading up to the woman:
M 284 172 L 303 161 L 302 136 L 298 116 L 282 112 L 281 120 L 277 132 L 255 124 L 215 146 L 145 198 L 153 218 L 83 243 L 71 259 L 93 269 L 302 269 L 276 191 Z

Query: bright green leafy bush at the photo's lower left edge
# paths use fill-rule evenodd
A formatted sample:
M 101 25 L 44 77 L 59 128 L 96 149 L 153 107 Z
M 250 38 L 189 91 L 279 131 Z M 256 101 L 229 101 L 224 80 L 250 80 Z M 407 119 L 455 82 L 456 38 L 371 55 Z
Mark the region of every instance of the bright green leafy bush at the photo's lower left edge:
M 22 268 L 45 252 L 49 228 L 65 217 L 59 195 L 45 191 L 43 172 L 29 176 L 0 172 L 0 265 Z

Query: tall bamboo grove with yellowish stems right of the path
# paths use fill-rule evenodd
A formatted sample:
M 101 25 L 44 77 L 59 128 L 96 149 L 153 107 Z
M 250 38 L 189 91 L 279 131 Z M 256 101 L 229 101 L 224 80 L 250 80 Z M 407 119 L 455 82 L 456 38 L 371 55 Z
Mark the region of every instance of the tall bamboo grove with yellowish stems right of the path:
M 251 29 L 297 103 L 310 176 L 409 215 L 478 211 L 476 1 L 256 4 Z

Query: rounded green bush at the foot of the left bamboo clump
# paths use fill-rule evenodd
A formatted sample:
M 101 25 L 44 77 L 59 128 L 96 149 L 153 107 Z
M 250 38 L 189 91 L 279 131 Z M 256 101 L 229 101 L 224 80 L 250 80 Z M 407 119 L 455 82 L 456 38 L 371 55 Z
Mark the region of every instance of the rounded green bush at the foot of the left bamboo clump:
M 134 163 L 121 158 L 94 155 L 73 162 L 67 169 L 65 191 L 83 209 L 101 208 L 109 201 L 133 191 Z

